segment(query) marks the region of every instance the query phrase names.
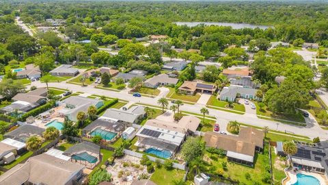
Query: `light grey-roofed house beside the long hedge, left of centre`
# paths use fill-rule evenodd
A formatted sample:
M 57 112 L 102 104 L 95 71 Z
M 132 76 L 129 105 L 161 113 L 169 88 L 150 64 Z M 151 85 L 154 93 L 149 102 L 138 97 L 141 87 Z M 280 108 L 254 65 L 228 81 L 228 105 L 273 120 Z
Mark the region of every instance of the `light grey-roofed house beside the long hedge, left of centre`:
M 66 116 L 69 120 L 77 122 L 77 113 L 87 112 L 87 108 L 95 106 L 97 109 L 104 105 L 104 101 L 100 99 L 92 99 L 88 97 L 71 96 L 59 102 L 59 106 L 63 107 L 58 112 Z

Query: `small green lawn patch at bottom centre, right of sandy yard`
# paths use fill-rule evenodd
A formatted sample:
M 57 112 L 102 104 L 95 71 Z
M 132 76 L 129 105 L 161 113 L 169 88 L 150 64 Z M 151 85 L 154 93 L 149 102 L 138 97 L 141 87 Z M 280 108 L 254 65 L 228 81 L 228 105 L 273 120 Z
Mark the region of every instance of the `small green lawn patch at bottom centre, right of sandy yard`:
M 185 171 L 178 169 L 167 170 L 162 165 L 161 168 L 155 168 L 150 180 L 157 185 L 173 184 L 172 180 L 182 180 L 184 173 Z

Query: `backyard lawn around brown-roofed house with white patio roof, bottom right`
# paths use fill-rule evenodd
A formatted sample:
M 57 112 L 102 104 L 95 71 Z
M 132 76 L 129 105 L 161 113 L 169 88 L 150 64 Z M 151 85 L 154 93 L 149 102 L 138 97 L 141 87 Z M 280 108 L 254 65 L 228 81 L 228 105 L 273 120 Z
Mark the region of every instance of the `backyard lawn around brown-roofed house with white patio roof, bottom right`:
M 218 169 L 223 169 L 222 162 L 227 163 L 227 169 L 223 172 L 223 177 L 230 177 L 232 180 L 239 181 L 241 184 L 254 184 L 258 182 L 259 184 L 264 184 L 262 182 L 262 177 L 266 172 L 265 167 L 269 166 L 269 153 L 268 145 L 264 146 L 264 153 L 256 153 L 254 161 L 254 167 L 247 167 L 234 162 L 228 162 L 227 157 L 219 158 L 216 154 L 210 154 L 206 151 L 205 158 L 207 159 L 208 165 L 206 166 L 207 171 L 215 173 Z M 246 179 L 246 173 L 249 173 L 251 178 Z M 269 173 L 270 174 L 270 173 Z

